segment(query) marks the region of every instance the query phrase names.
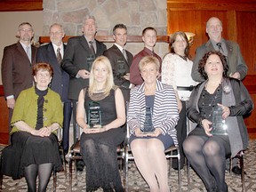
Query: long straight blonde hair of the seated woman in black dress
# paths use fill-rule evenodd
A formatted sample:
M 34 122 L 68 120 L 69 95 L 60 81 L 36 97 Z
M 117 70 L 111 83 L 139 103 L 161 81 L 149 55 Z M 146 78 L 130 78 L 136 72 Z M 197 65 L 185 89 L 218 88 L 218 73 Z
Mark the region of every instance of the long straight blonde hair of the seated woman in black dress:
M 97 82 L 95 81 L 95 77 L 94 77 L 94 68 L 95 68 L 95 65 L 98 63 L 102 63 L 102 64 L 104 64 L 104 66 L 106 66 L 108 68 L 108 78 L 106 79 L 104 89 L 102 90 L 103 93 L 108 95 L 110 93 L 110 90 L 115 85 L 110 61 L 108 60 L 107 57 L 100 56 L 100 57 L 96 58 L 96 60 L 94 60 L 92 63 L 92 69 L 91 69 L 91 74 L 90 74 L 90 79 L 89 79 L 89 89 L 88 89 L 89 96 L 92 96 L 92 93 L 97 92 L 97 90 L 96 90 Z

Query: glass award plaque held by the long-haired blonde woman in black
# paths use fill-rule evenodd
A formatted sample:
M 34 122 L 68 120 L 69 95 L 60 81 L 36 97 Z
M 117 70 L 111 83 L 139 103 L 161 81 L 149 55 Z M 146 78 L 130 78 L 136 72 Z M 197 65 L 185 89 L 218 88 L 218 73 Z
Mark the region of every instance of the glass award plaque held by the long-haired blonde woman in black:
M 89 103 L 87 124 L 89 124 L 90 128 L 101 127 L 100 103 L 95 101 Z

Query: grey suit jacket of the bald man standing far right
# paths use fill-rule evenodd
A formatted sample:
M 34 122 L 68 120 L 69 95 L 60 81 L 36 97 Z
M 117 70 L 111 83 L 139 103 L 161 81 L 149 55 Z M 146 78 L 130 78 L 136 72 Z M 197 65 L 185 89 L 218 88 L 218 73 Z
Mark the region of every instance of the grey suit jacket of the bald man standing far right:
M 228 76 L 232 73 L 235 73 L 236 71 L 240 74 L 240 79 L 244 79 L 244 77 L 247 75 L 247 66 L 245 64 L 244 58 L 242 56 L 242 53 L 240 51 L 240 47 L 238 44 L 232 41 L 224 40 L 224 43 L 227 46 L 228 50 Z M 199 61 L 204 57 L 204 54 L 206 52 L 214 51 L 214 47 L 212 45 L 211 40 L 209 40 L 207 43 L 202 44 L 200 47 L 196 49 L 196 56 L 192 68 L 192 78 L 196 82 L 202 82 L 205 79 L 199 74 L 198 72 L 198 64 Z

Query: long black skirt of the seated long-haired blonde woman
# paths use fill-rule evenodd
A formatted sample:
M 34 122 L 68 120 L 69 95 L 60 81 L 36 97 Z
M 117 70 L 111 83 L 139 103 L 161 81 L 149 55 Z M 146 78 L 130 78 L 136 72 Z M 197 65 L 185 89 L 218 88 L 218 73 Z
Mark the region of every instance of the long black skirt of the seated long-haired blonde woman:
M 113 149 L 114 148 L 114 149 Z M 87 139 L 81 143 L 81 151 L 86 165 L 86 191 L 103 188 L 103 191 L 123 192 L 117 167 L 116 147 L 109 147 Z

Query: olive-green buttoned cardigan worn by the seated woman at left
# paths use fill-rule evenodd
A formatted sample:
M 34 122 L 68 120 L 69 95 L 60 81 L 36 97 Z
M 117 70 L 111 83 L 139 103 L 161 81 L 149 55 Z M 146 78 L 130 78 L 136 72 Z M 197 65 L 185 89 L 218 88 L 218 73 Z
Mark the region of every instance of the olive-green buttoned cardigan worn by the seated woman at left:
M 12 114 L 12 134 L 13 132 L 20 131 L 14 124 L 19 121 L 23 121 L 30 127 L 36 129 L 37 119 L 37 99 L 35 87 L 28 88 L 20 92 L 18 99 L 15 102 L 15 108 Z M 44 96 L 44 126 L 50 126 L 53 123 L 63 123 L 63 107 L 60 100 L 60 95 L 53 92 L 50 88 L 47 94 Z

